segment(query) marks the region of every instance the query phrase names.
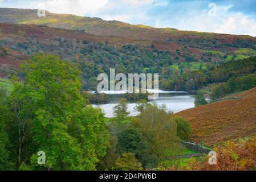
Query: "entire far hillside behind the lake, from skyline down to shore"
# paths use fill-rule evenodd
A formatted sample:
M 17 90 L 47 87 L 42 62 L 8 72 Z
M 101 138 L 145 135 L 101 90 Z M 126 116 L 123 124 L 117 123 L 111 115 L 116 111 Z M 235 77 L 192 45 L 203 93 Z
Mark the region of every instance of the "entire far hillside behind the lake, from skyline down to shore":
M 206 68 L 256 55 L 251 36 L 49 12 L 40 18 L 37 11 L 0 9 L 0 73 L 17 73 L 22 60 L 46 52 L 78 63 L 84 89 L 95 89 L 96 76 L 115 68 L 119 73 L 159 73 L 162 89 L 193 90 L 207 81 Z

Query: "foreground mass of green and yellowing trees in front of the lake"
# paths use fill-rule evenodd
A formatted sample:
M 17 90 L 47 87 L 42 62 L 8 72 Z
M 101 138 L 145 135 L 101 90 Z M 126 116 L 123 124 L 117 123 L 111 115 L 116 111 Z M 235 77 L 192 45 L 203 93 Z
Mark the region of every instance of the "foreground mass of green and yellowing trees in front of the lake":
M 121 100 L 107 120 L 80 92 L 77 64 L 59 57 L 33 56 L 22 72 L 24 82 L 14 77 L 13 92 L 0 92 L 1 170 L 155 168 L 183 151 L 179 140 L 191 134 L 187 121 L 145 100 L 135 108 L 138 117 L 129 118 Z M 39 151 L 45 165 L 38 164 Z

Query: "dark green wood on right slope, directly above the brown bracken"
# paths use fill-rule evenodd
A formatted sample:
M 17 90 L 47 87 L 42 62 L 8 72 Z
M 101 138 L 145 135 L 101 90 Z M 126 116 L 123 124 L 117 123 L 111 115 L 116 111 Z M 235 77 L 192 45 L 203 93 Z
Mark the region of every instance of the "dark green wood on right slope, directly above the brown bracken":
M 256 57 L 249 59 L 225 61 L 219 65 L 213 65 L 208 69 L 184 73 L 162 81 L 161 88 L 166 90 L 197 90 L 206 84 L 226 82 L 231 77 L 247 75 L 256 72 Z

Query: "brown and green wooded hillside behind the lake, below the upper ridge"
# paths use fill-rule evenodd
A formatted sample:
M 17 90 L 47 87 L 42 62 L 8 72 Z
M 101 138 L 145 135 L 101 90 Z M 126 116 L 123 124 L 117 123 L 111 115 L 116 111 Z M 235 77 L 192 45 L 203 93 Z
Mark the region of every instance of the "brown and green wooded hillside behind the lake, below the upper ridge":
M 248 57 L 256 52 L 252 48 L 237 48 L 226 55 L 182 45 L 176 49 L 172 44 L 169 44 L 169 51 L 164 51 L 164 44 L 161 46 L 162 49 L 157 49 L 150 41 L 97 36 L 47 26 L 0 23 L 0 73 L 13 73 L 10 69 L 17 72 L 23 59 L 44 52 L 79 63 L 84 89 L 96 89 L 97 75 L 116 68 L 119 73 L 159 73 L 161 89 L 191 91 L 207 83 L 227 81 L 223 78 L 229 76 L 222 73 L 226 71 L 214 73 L 217 75 L 209 80 L 212 75 L 207 70 L 212 72 L 212 66 L 230 57 L 227 63 L 233 63 L 241 56 Z M 247 64 L 239 67 L 243 65 Z M 230 74 L 249 74 L 254 72 L 251 67 L 253 63 L 242 72 Z

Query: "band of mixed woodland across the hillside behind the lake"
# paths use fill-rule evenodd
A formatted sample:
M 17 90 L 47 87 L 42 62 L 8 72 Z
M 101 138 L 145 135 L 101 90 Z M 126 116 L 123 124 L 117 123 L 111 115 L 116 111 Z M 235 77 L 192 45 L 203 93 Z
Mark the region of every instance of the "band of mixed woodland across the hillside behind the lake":
M 79 68 L 82 70 L 83 90 L 96 90 L 97 75 L 100 73 L 109 75 L 110 68 L 115 68 L 116 73 L 125 74 L 159 73 L 160 89 L 178 91 L 197 90 L 209 83 L 225 82 L 231 75 L 255 72 L 254 58 L 249 59 L 249 63 L 245 65 L 243 64 L 245 61 L 233 65 L 231 61 L 239 59 L 239 57 L 236 58 L 237 54 L 233 53 L 233 56 L 230 57 L 230 55 L 220 51 L 205 51 L 201 57 L 198 57 L 190 51 L 191 46 L 184 46 L 175 52 L 169 52 L 160 51 L 154 45 L 148 46 L 146 44 L 111 46 L 107 40 L 105 43 L 95 43 L 87 40 L 56 37 L 51 42 L 51 44 L 45 44 L 36 37 L 34 39 L 26 38 L 26 42 L 5 38 L 0 40 L 0 46 L 3 47 L 0 49 L 0 54 L 2 56 L 9 55 L 10 50 L 14 50 L 27 56 L 40 52 L 60 55 L 62 59 L 79 64 Z M 245 43 L 238 40 L 238 44 L 238 48 L 251 48 L 250 42 Z M 241 49 L 241 52 L 246 51 L 245 48 Z M 253 49 L 251 50 L 253 51 Z M 225 70 L 228 69 L 229 64 L 231 65 L 230 69 Z M 231 70 L 234 72 L 230 73 Z M 229 73 L 227 74 L 226 71 Z M 16 74 L 24 78 L 23 74 L 20 74 L 19 71 L 15 73 L 7 65 L 2 65 L 0 72 Z

